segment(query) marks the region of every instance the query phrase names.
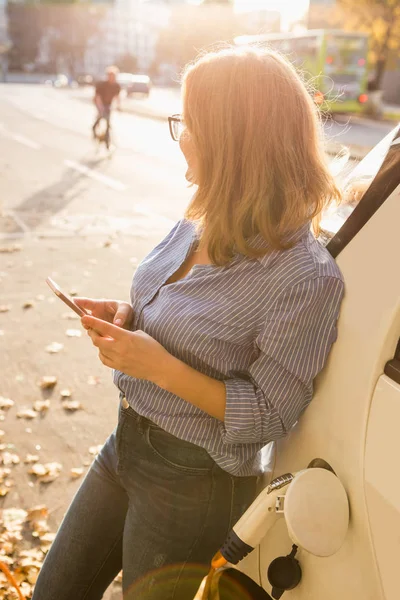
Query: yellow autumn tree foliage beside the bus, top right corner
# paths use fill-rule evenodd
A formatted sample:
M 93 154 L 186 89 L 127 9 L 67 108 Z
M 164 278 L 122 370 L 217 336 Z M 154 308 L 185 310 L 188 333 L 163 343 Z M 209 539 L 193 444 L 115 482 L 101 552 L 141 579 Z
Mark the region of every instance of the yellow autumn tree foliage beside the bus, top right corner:
M 390 55 L 400 47 L 399 0 L 338 0 L 338 6 L 346 14 L 346 29 L 369 34 L 370 62 L 375 66 L 371 83 L 381 89 Z

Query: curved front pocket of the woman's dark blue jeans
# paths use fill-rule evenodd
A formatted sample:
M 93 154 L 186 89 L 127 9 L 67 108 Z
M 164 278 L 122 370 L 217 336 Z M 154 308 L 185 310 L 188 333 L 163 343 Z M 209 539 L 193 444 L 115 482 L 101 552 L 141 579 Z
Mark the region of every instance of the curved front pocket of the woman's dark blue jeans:
M 211 456 L 201 448 L 150 425 L 146 432 L 149 448 L 164 465 L 185 473 L 207 473 L 215 466 Z

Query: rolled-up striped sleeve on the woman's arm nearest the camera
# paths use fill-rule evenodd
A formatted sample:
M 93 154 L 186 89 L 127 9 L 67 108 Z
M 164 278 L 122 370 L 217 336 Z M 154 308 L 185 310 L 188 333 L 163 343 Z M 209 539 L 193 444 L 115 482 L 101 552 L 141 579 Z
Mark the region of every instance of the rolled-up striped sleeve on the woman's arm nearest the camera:
M 280 294 L 256 339 L 259 357 L 248 377 L 224 382 L 225 443 L 268 443 L 297 422 L 336 340 L 343 291 L 340 278 L 324 276 Z

